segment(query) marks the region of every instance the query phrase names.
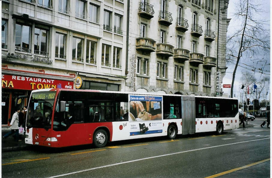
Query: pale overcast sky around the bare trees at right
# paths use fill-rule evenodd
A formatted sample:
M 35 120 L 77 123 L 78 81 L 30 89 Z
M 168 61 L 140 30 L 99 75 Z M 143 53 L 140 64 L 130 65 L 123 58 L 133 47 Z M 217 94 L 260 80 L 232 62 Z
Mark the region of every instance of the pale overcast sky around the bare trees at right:
M 238 25 L 239 22 L 234 18 L 233 13 L 235 12 L 235 8 L 237 7 L 235 5 L 235 3 L 237 3 L 238 0 L 230 0 L 229 1 L 229 7 L 228 7 L 228 18 L 231 18 L 231 21 L 229 23 L 229 27 L 228 27 L 228 34 L 231 34 L 233 31 L 237 30 L 237 29 L 241 29 L 241 25 Z M 270 9 L 271 9 L 271 4 L 270 4 L 270 0 L 263 0 L 263 1 L 258 1 L 258 3 L 262 4 L 263 7 L 263 11 L 259 16 L 259 19 L 265 19 L 268 20 L 267 23 L 267 28 L 270 29 Z M 227 35 L 228 35 L 227 34 Z M 270 35 L 269 35 L 270 36 Z M 235 61 L 236 63 L 236 61 Z M 243 81 L 241 79 L 242 76 L 242 72 L 244 71 L 248 71 L 250 73 L 253 73 L 253 75 L 256 77 L 257 81 L 259 81 L 262 77 L 264 76 L 268 76 L 270 77 L 270 55 L 259 55 L 259 56 L 253 56 L 251 59 L 248 58 L 243 58 L 240 60 L 239 62 L 240 65 L 247 67 L 248 69 L 252 69 L 252 67 L 256 67 L 256 68 L 263 68 L 264 70 L 267 70 L 269 72 L 265 72 L 269 75 L 265 75 L 265 74 L 261 74 L 261 73 L 254 73 L 252 70 L 248 70 L 242 67 L 237 68 L 236 71 L 236 75 L 235 75 L 235 83 L 234 83 L 234 94 L 236 96 L 236 98 L 238 98 L 240 100 L 240 89 L 241 89 L 241 84 L 243 84 Z M 246 64 L 246 65 L 244 65 Z M 249 67 L 249 66 L 252 67 Z M 232 74 L 233 74 L 233 70 L 235 65 L 232 64 L 227 64 L 228 69 L 226 70 L 226 75 L 223 78 L 223 83 L 222 84 L 231 84 L 232 83 Z M 266 90 L 268 90 L 269 93 L 269 87 L 266 88 Z M 228 95 L 230 95 L 230 88 L 223 88 L 224 93 L 228 93 Z M 266 93 L 266 91 L 265 91 Z M 265 99 L 265 98 L 262 98 Z M 269 96 L 267 96 L 267 99 L 269 99 Z

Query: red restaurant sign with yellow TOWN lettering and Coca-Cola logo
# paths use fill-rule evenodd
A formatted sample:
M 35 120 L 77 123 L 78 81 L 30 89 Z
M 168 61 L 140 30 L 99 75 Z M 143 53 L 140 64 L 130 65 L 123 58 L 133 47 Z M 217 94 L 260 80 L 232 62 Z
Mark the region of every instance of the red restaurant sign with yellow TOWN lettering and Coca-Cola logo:
M 66 80 L 2 74 L 2 88 L 22 90 L 37 90 L 44 88 L 73 89 L 73 85 L 72 81 Z

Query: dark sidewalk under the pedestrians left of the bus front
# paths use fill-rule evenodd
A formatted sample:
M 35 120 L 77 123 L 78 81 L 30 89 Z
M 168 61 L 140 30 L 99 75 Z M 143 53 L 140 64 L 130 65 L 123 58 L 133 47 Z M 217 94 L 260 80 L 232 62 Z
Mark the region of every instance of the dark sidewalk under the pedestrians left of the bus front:
M 2 137 L 9 131 L 10 130 L 2 130 Z M 12 135 L 5 138 L 5 141 L 2 140 L 2 152 L 27 149 L 30 145 L 25 144 L 25 135 L 21 136 L 23 136 L 22 141 L 15 141 Z

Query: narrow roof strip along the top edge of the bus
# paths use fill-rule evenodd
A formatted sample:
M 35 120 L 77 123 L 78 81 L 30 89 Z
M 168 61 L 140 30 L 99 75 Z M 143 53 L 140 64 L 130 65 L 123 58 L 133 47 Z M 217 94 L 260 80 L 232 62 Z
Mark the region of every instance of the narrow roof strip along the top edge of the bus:
M 157 95 L 157 96 L 187 96 L 187 95 L 180 95 L 180 94 L 163 94 L 163 93 L 136 93 L 136 92 L 128 92 L 128 91 L 108 91 L 108 90 L 81 90 L 81 89 L 66 89 L 66 88 L 47 88 L 47 89 L 39 89 L 39 90 L 32 90 L 32 92 L 41 92 L 41 91 L 80 91 L 80 92 L 101 92 L 101 93 L 124 93 L 124 94 L 131 94 L 131 95 Z M 216 98 L 216 99 L 236 99 L 237 98 L 225 98 L 225 97 L 215 97 L 215 96 L 199 96 L 194 95 L 197 98 Z

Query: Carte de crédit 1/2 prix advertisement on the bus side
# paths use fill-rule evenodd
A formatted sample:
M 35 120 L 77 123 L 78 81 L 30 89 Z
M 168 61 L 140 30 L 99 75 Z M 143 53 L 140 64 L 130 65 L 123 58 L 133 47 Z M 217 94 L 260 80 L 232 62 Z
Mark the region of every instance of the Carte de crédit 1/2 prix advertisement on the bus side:
M 130 136 L 162 133 L 162 96 L 129 95 L 129 103 Z

